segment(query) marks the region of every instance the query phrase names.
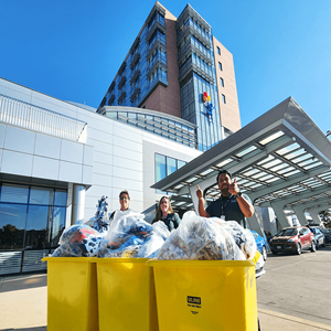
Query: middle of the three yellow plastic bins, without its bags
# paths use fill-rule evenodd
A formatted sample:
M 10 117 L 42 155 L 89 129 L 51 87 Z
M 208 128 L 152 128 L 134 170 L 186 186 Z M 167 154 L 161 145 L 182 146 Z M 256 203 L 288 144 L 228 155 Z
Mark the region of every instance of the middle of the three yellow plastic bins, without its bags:
M 147 258 L 95 258 L 100 331 L 158 331 L 153 271 Z

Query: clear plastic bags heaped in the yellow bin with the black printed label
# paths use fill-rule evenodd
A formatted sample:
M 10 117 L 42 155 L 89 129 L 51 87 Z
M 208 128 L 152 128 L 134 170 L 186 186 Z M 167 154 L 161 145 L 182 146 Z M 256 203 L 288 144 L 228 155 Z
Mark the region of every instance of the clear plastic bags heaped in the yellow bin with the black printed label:
M 186 212 L 159 250 L 158 259 L 245 260 L 253 258 L 256 250 L 252 233 L 237 222 Z

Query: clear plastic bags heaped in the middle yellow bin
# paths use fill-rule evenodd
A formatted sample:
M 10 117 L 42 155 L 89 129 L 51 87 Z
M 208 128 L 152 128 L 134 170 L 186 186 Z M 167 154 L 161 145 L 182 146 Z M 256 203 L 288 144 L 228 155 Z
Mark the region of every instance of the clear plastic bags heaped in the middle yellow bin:
M 163 222 L 151 225 L 143 218 L 143 214 L 135 212 L 118 218 L 115 214 L 98 257 L 157 257 L 170 232 Z

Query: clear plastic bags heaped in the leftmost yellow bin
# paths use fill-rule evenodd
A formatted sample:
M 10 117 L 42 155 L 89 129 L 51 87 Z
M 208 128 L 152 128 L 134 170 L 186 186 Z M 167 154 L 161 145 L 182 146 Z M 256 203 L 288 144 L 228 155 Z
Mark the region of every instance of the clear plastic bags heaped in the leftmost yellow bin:
M 66 228 L 60 246 L 53 252 L 53 257 L 93 257 L 97 256 L 104 235 L 85 224 L 75 224 Z

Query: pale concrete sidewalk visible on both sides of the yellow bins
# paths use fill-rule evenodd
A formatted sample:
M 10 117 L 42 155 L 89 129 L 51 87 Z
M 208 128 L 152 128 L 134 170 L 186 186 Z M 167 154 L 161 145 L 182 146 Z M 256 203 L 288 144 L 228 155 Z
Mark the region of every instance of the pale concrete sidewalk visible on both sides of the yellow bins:
M 46 278 L 45 274 L 0 278 L 1 331 L 45 331 L 47 329 Z M 258 317 L 263 331 L 331 331 L 331 325 L 265 309 L 258 309 Z

